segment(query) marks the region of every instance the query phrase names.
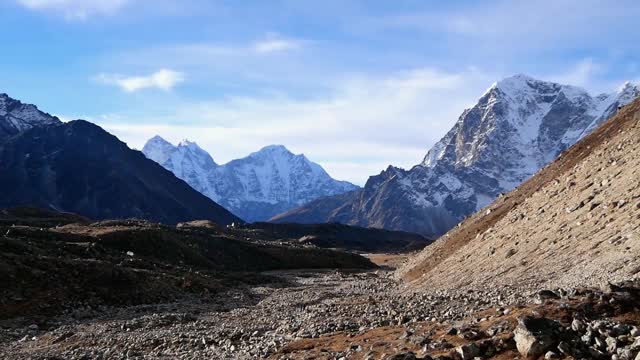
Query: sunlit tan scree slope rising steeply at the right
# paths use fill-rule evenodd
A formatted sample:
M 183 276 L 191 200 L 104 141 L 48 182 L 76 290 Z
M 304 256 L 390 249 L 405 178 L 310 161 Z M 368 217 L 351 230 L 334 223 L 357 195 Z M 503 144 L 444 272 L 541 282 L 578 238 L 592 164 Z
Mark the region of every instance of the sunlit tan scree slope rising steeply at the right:
M 430 289 L 603 286 L 640 277 L 640 100 L 398 275 Z

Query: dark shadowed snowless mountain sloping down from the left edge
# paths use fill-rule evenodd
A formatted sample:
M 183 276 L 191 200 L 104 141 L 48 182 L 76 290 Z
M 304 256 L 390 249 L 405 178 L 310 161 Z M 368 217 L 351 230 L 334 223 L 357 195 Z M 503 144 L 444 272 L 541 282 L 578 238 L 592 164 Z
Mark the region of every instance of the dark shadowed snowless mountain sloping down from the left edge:
M 141 152 L 82 120 L 32 127 L 0 144 L 0 207 L 24 205 L 93 219 L 240 221 Z

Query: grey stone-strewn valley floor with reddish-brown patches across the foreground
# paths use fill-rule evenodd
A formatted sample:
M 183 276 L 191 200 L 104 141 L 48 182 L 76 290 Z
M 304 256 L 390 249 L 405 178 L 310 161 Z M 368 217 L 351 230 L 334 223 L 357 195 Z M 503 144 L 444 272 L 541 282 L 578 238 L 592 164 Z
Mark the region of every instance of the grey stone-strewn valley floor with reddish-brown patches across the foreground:
M 269 272 L 211 297 L 4 320 L 0 358 L 633 360 L 640 350 L 635 287 L 406 293 L 392 276 L 398 258 L 373 259 L 385 266 Z

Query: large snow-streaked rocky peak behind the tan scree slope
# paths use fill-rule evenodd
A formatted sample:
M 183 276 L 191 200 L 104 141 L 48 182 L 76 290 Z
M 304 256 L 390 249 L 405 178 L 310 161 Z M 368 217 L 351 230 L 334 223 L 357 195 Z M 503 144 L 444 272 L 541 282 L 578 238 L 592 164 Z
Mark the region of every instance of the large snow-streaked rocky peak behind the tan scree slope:
M 640 95 L 586 91 L 515 75 L 495 83 L 410 170 L 390 166 L 364 189 L 318 199 L 277 222 L 342 222 L 438 236 L 531 177 Z

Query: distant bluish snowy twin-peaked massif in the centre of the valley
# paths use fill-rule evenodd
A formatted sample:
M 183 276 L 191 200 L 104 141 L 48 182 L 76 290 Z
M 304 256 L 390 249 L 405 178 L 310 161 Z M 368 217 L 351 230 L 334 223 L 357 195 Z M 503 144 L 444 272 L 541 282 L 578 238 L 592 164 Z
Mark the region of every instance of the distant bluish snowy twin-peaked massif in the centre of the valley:
M 358 189 L 331 178 L 304 155 L 282 145 L 267 146 L 249 156 L 217 165 L 193 142 L 173 146 L 159 136 L 142 152 L 194 189 L 246 221 L 263 221 L 323 196 Z

